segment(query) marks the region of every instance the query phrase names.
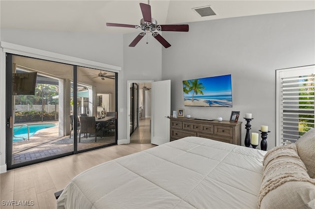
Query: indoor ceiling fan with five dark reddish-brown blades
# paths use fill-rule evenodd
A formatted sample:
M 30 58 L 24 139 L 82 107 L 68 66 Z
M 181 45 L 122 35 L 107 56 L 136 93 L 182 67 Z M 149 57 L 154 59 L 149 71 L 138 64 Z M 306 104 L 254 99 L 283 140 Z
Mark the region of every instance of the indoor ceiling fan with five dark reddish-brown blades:
M 151 17 L 151 6 L 145 3 L 140 3 L 140 8 L 143 18 L 140 20 L 140 26 L 136 25 L 127 25 L 127 24 L 117 24 L 117 23 L 106 23 L 106 26 L 116 26 L 116 27 L 133 27 L 141 28 L 144 32 L 141 32 L 129 45 L 129 47 L 134 47 L 137 43 L 148 33 L 151 32 L 152 36 L 158 40 L 165 48 L 170 47 L 171 45 L 155 30 L 158 31 L 182 31 L 188 32 L 188 25 L 158 25 L 156 19 Z M 148 43 L 148 42 L 147 42 Z

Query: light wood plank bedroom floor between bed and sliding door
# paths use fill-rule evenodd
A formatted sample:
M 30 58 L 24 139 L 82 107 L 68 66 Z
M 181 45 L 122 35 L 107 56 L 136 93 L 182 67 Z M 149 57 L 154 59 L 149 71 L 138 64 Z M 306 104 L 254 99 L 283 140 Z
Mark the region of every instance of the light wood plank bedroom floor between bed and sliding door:
M 1 209 L 56 209 L 54 193 L 82 171 L 102 162 L 155 147 L 152 144 L 115 145 L 62 157 L 0 174 Z M 6 206 L 3 201 L 29 201 L 33 206 Z M 11 202 L 12 203 L 12 202 Z

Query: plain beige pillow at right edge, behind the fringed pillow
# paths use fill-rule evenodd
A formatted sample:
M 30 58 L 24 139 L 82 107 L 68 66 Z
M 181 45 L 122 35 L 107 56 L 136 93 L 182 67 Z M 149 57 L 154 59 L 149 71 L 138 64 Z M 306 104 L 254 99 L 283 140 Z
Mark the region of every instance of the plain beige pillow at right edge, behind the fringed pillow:
M 295 144 L 297 153 L 306 166 L 307 173 L 315 179 L 315 129 L 307 131 Z

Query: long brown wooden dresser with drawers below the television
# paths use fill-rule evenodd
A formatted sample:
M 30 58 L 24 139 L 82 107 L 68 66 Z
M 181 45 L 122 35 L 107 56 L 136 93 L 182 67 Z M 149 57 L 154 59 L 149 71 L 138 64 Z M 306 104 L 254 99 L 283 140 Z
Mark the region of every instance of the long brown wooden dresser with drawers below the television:
M 241 145 L 242 122 L 196 120 L 170 117 L 170 141 L 186 136 L 199 136 Z

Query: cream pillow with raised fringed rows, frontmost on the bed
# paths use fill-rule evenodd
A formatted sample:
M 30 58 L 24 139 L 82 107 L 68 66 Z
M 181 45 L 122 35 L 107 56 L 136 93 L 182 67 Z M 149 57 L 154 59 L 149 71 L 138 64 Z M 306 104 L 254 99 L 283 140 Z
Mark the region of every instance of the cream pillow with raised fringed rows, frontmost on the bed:
M 263 165 L 258 208 L 313 208 L 315 180 L 307 174 L 295 144 L 275 147 L 268 151 Z

